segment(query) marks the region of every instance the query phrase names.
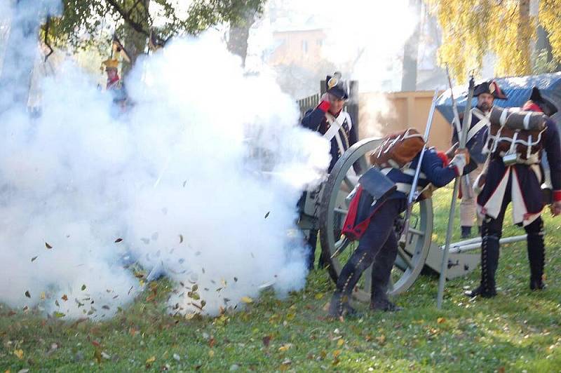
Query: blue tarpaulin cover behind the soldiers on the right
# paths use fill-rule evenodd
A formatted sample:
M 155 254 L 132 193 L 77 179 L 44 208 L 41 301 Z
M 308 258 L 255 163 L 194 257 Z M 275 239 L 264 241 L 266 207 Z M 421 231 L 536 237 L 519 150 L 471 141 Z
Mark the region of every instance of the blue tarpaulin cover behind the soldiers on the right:
M 557 104 L 561 111 L 561 72 L 552 74 L 540 74 L 530 76 L 515 76 L 510 78 L 497 78 L 499 87 L 506 94 L 508 100 L 495 100 L 494 104 L 500 107 L 521 107 L 530 96 L 532 87 L 539 88 L 541 93 Z M 480 82 L 475 82 L 480 83 Z M 468 87 L 458 86 L 454 87 L 454 99 L 458 105 L 458 112 L 464 112 L 467 100 Z M 474 97 L 472 107 L 477 104 L 477 99 Z M 440 114 L 446 118 L 449 123 L 452 123 L 454 113 L 452 111 L 452 98 L 450 97 L 450 89 L 445 90 L 438 100 L 436 101 L 436 109 Z M 557 123 L 561 123 L 561 113 L 553 116 Z

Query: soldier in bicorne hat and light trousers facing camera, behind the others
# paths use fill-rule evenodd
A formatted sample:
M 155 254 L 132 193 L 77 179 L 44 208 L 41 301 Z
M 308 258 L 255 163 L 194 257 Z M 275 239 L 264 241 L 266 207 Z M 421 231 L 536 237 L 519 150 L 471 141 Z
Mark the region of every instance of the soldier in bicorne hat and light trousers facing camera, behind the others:
M 469 149 L 470 158 L 473 163 L 468 165 L 468 174 L 461 177 L 461 238 L 469 238 L 471 236 L 471 228 L 474 220 L 478 222 L 478 228 L 480 230 L 481 217 L 476 212 L 473 182 L 475 182 L 475 177 L 482 172 L 483 163 L 485 163 L 485 159 L 487 158 L 487 154 L 482 154 L 482 151 L 485 140 L 487 140 L 489 115 L 491 114 L 494 100 L 507 99 L 496 81 L 485 81 L 475 86 L 473 97 L 478 97 L 478 104 L 470 110 L 470 118 L 468 118 L 470 127 L 466 140 L 466 147 Z M 458 129 L 459 126 L 454 126 L 452 144 L 458 142 Z

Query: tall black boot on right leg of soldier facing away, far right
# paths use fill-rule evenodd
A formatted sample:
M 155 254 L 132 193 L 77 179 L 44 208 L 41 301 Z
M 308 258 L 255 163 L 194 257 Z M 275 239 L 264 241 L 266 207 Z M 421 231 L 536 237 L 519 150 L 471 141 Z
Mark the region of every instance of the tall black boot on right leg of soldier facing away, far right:
M 541 290 L 543 283 L 543 266 L 546 259 L 546 245 L 543 242 L 543 221 L 541 217 L 526 227 L 528 244 L 528 261 L 530 264 L 530 290 Z

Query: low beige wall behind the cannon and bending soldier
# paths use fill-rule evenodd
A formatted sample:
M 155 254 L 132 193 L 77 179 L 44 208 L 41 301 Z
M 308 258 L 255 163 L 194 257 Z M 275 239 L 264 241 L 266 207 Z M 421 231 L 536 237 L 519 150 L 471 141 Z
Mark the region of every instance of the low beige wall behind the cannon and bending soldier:
M 434 91 L 396 93 L 360 93 L 359 137 L 383 136 L 406 128 L 424 134 Z M 435 110 L 429 146 L 439 150 L 450 148 L 452 126 Z

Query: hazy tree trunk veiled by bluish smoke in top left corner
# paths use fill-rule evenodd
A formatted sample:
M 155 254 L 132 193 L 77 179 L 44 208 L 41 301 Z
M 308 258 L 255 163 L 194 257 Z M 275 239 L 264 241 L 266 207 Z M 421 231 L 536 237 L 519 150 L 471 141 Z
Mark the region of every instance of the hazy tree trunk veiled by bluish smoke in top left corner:
M 0 113 L 10 107 L 26 107 L 33 65 L 39 51 L 41 6 L 36 0 L 16 0 L 4 63 L 0 70 Z

